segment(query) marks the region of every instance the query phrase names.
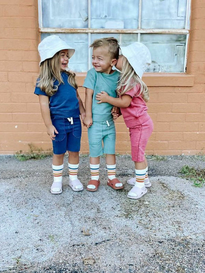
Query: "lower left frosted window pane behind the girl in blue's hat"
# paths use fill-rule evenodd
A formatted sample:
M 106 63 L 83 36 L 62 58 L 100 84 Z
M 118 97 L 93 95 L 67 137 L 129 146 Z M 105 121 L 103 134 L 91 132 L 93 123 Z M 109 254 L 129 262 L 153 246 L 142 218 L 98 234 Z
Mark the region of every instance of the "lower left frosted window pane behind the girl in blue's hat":
M 53 34 L 53 33 L 52 33 Z M 41 40 L 45 37 L 52 35 L 48 33 L 41 34 Z M 63 40 L 65 40 L 69 46 L 75 48 L 75 53 L 69 60 L 69 68 L 76 72 L 84 72 L 88 70 L 88 34 L 81 33 L 56 33 Z

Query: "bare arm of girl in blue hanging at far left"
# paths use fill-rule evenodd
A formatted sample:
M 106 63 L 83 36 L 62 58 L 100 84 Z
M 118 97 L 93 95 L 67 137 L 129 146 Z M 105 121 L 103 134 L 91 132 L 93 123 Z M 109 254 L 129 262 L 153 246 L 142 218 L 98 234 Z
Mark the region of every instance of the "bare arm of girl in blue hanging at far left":
M 40 103 L 41 115 L 47 128 L 47 134 L 52 140 L 54 140 L 56 137 L 55 133 L 58 134 L 58 131 L 53 126 L 50 118 L 49 98 L 44 95 L 39 95 L 38 98 Z

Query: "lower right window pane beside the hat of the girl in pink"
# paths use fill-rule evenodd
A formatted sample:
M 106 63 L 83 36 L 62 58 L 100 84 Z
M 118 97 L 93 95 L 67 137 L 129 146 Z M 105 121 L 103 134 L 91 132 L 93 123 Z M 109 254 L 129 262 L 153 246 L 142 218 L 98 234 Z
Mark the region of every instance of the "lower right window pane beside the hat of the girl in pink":
M 140 40 L 151 53 L 147 72 L 184 72 L 186 35 L 141 34 Z

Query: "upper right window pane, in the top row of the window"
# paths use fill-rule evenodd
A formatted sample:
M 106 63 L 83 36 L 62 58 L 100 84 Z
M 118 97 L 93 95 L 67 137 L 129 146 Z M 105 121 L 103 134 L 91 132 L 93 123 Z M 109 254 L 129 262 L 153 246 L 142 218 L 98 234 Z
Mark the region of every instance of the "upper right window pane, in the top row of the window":
M 187 0 L 142 1 L 142 28 L 185 28 Z

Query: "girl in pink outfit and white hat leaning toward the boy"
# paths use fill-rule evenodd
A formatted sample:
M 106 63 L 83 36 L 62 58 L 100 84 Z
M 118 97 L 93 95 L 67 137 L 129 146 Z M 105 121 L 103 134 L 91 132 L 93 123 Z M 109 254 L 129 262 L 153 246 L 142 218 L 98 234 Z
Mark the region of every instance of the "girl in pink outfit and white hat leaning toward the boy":
M 142 81 L 142 74 L 151 63 L 151 56 L 148 48 L 138 42 L 120 49 L 122 55 L 115 65 L 122 72 L 117 87 L 118 98 L 110 97 L 101 91 L 96 95 L 96 99 L 99 100 L 98 103 L 108 102 L 120 107 L 124 122 L 129 128 L 136 177 L 127 181 L 128 184 L 134 185 L 127 197 L 138 199 L 147 193 L 147 188 L 151 186 L 144 154 L 153 131 L 153 122 L 147 114 L 146 102 L 149 93 Z

